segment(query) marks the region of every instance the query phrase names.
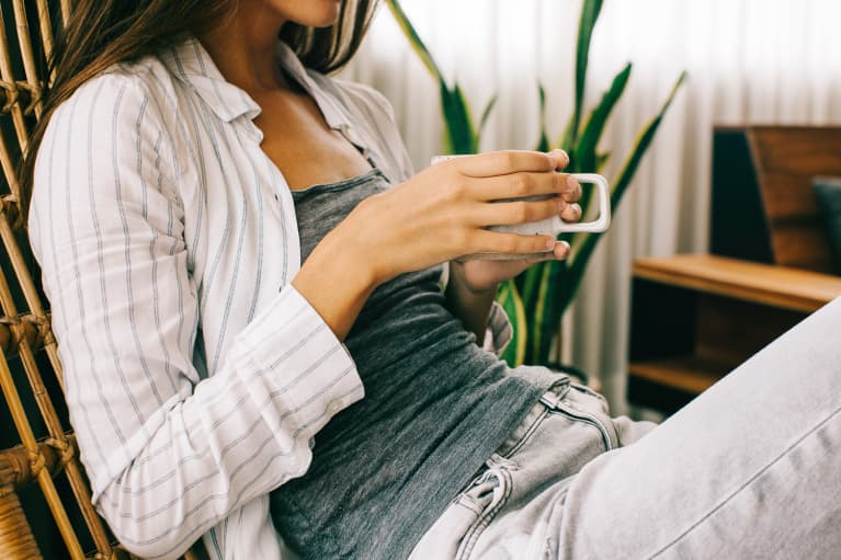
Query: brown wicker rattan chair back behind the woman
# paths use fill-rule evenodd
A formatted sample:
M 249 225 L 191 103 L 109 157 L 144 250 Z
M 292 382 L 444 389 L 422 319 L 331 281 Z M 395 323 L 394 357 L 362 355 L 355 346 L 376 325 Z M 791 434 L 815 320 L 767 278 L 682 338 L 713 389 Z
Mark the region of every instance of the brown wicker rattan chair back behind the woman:
M 91 504 L 61 386 L 15 165 L 42 113 L 45 59 L 69 0 L 0 1 L 0 559 L 132 558 Z M 10 16 L 11 15 L 11 16 Z M 37 22 L 30 25 L 27 22 Z M 8 448 L 5 448 L 8 447 Z M 198 559 L 204 551 L 187 552 Z

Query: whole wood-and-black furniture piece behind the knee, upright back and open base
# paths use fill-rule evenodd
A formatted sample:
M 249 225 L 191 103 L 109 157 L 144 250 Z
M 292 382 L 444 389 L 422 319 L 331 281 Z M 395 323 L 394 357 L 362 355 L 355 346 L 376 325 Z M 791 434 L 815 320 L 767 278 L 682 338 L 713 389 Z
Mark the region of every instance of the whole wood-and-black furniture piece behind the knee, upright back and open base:
M 841 176 L 841 128 L 716 128 L 713 254 L 634 264 L 632 404 L 674 412 L 841 296 L 816 175 Z

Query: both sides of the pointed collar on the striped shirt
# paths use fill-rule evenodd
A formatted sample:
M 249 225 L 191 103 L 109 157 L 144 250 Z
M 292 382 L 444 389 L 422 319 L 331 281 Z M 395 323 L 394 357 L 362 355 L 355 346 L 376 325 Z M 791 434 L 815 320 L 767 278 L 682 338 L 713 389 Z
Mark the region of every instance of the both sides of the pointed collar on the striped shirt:
M 350 127 L 346 112 L 342 111 L 337 100 L 325 92 L 297 55 L 282 41 L 277 41 L 276 56 L 277 62 L 286 73 L 312 96 L 331 128 Z M 169 71 L 192 88 L 223 121 L 229 123 L 242 115 L 253 119 L 260 114 L 260 105 L 245 90 L 225 79 L 197 38 L 191 36 L 180 45 L 169 48 L 161 54 L 161 59 Z

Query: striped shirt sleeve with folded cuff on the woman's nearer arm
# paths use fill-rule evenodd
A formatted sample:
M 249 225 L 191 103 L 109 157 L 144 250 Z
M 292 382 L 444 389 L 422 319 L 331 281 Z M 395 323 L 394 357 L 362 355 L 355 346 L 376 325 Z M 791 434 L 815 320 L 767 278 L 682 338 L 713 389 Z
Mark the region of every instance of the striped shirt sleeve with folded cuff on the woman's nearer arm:
M 50 119 L 29 219 L 94 502 L 148 558 L 182 553 L 311 460 L 363 397 L 353 359 L 294 287 L 193 363 L 198 296 L 172 141 L 139 80 L 91 80 Z

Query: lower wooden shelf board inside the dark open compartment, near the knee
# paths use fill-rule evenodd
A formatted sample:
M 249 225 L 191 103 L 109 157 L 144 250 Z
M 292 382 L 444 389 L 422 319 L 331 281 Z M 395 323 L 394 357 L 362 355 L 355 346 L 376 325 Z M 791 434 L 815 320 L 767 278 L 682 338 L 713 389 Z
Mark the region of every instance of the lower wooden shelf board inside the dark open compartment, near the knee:
M 632 362 L 628 365 L 628 373 L 672 389 L 698 395 L 734 369 L 736 365 L 700 356 L 682 356 Z

